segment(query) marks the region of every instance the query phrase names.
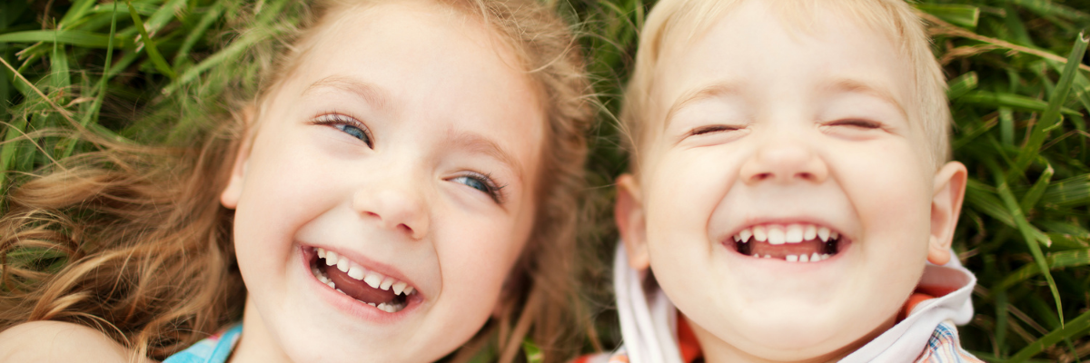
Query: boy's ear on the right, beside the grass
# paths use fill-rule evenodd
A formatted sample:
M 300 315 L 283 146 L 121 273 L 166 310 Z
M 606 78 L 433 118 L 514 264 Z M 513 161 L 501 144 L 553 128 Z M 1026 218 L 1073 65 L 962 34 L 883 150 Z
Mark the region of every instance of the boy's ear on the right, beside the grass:
M 965 165 L 950 161 L 935 173 L 934 195 L 931 197 L 931 241 L 928 245 L 928 262 L 945 265 L 950 259 L 950 244 L 954 229 L 965 199 L 965 184 L 968 179 Z

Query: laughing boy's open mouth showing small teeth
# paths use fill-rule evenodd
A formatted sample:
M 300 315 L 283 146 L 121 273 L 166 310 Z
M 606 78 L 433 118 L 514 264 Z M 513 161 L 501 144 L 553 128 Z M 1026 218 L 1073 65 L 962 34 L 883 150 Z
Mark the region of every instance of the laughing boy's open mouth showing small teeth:
M 828 227 L 790 223 L 751 226 L 732 238 L 735 251 L 756 258 L 814 263 L 825 261 L 846 245 L 846 239 Z

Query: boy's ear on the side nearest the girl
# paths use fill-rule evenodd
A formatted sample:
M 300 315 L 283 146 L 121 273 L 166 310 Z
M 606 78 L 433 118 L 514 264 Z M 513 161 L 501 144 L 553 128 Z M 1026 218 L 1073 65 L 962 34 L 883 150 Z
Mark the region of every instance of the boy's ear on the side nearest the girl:
M 646 215 L 643 211 L 640 185 L 632 174 L 617 178 L 617 204 L 614 206 L 614 220 L 620 239 L 628 251 L 628 265 L 637 270 L 645 270 L 651 266 L 647 253 Z

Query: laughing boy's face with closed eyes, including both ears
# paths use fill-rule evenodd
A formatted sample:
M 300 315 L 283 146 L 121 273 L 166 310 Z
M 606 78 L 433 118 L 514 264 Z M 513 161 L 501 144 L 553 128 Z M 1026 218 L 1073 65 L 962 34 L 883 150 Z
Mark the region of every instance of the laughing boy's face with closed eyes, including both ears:
M 885 34 L 826 9 L 785 27 L 767 7 L 664 49 L 639 179 L 619 180 L 630 263 L 712 362 L 835 358 L 887 329 L 948 257 L 964 189 L 960 164 L 930 161 Z

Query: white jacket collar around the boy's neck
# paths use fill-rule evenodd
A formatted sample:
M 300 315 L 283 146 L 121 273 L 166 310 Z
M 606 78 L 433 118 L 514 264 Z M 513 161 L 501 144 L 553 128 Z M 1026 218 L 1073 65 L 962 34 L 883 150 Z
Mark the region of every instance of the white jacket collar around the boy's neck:
M 621 349 L 631 363 L 682 363 L 676 308 L 657 285 L 644 291 L 644 275 L 628 266 L 625 246 L 618 244 L 614 290 L 625 339 Z M 944 266 L 929 264 L 919 285 L 954 291 L 919 303 L 904 320 L 840 362 L 912 362 L 940 323 L 953 320 L 962 325 L 972 318 L 970 295 L 977 278 L 957 258 L 950 258 Z

